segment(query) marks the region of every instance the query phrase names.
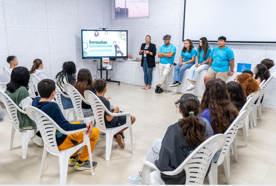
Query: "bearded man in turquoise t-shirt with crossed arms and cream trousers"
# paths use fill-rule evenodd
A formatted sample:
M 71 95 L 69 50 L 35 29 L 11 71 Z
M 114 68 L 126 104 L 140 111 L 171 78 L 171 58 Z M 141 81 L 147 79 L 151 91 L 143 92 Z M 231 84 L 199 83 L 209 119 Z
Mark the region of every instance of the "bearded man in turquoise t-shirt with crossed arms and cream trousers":
M 159 63 L 159 84 L 156 85 L 155 93 L 162 93 L 162 85 L 165 82 L 168 74 L 171 72 L 171 68 L 174 65 L 174 56 L 176 53 L 176 48 L 170 43 L 171 36 L 169 34 L 163 37 L 164 44 L 159 49 L 158 57 L 160 58 Z

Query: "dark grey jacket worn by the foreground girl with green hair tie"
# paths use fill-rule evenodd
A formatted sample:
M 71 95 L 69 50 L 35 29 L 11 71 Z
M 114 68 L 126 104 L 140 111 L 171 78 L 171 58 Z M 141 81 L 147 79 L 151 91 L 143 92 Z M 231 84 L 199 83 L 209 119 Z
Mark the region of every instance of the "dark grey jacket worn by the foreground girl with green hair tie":
M 207 119 L 198 118 L 204 124 L 206 139 L 213 136 L 213 129 Z M 188 146 L 186 138 L 183 136 L 178 123 L 168 127 L 166 134 L 162 140 L 162 145 L 159 151 L 159 159 L 155 161 L 156 167 L 161 171 L 173 171 L 176 169 L 202 142 L 197 141 L 195 146 Z M 210 167 L 209 167 L 210 169 Z M 209 171 L 208 171 L 209 172 Z M 208 172 L 206 176 L 208 175 Z M 168 176 L 161 173 L 161 179 L 166 185 L 185 185 L 186 173 L 181 171 L 174 176 Z

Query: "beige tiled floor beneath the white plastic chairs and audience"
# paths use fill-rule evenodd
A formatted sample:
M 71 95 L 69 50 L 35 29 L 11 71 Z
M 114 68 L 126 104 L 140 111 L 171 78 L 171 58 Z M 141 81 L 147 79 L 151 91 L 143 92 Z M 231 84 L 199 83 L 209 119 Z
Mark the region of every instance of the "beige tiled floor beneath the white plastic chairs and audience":
M 100 135 L 93 152 L 93 160 L 98 162 L 95 174 L 91 176 L 89 171 L 69 167 L 67 184 L 128 184 L 126 177 L 140 170 L 155 139 L 163 138 L 167 127 L 180 118 L 174 105 L 181 97 L 179 93 L 155 94 L 154 89 L 108 83 L 106 96 L 112 97 L 111 104 L 136 117 L 133 124 L 135 153 L 131 154 L 130 136 L 126 131 L 125 149 L 113 142 L 111 159 L 105 161 L 105 135 Z M 1 106 L 4 108 L 3 104 Z M 275 114 L 276 111 L 264 109 L 262 121 L 258 120 L 258 126 L 250 129 L 248 147 L 244 146 L 241 131 L 238 132 L 238 162 L 230 155 L 230 184 L 276 184 Z M 44 175 L 40 178 L 43 148 L 29 140 L 27 159 L 23 160 L 20 133 L 15 133 L 10 150 L 11 122 L 7 115 L 0 125 L 0 184 L 59 184 L 58 157 L 48 153 Z M 225 184 L 222 166 L 219 166 L 218 174 L 218 183 Z

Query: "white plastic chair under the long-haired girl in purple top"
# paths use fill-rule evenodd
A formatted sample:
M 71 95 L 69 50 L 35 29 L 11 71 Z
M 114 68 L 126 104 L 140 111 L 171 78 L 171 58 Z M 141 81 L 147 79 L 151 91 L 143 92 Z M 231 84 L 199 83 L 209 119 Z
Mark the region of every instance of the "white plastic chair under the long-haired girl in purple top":
M 219 159 L 216 163 L 212 162 L 211 170 L 208 174 L 209 178 L 209 184 L 210 185 L 218 185 L 218 166 L 223 163 L 224 167 L 224 174 L 226 178 L 226 183 L 229 184 L 229 175 L 230 175 L 230 145 L 233 143 L 236 137 L 236 133 L 238 130 L 239 123 L 244 122 L 244 119 L 246 115 L 246 111 L 242 111 L 241 114 L 239 114 L 236 119 L 232 122 L 232 124 L 229 126 L 229 128 L 225 131 L 224 135 L 226 135 L 226 143 L 224 147 L 222 148 Z M 236 142 L 236 141 L 235 141 Z M 235 148 L 233 147 L 234 153 Z

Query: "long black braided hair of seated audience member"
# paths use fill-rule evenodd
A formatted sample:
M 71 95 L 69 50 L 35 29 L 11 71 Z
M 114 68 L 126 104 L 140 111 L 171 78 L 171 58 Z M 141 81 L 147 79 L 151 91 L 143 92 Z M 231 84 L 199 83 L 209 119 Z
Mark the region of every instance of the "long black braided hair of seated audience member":
M 76 79 L 76 72 L 77 72 L 77 68 L 74 62 L 71 62 L 71 61 L 64 62 L 62 65 L 62 70 L 58 72 L 55 77 L 57 86 L 61 86 L 63 78 L 67 74 L 73 75 L 74 78 Z

